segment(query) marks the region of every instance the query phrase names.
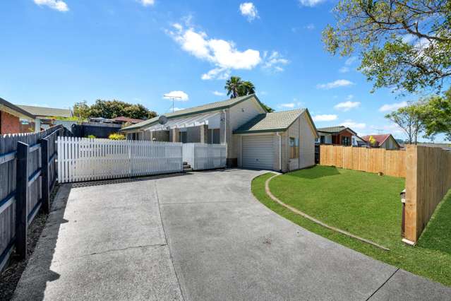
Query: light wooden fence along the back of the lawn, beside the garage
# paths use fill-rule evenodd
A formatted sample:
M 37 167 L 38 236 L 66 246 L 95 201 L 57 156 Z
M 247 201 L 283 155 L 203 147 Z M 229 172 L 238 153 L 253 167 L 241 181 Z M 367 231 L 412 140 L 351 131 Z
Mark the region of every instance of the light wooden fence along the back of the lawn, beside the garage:
M 321 145 L 320 165 L 406 177 L 406 151 Z

